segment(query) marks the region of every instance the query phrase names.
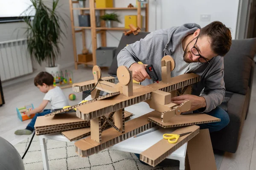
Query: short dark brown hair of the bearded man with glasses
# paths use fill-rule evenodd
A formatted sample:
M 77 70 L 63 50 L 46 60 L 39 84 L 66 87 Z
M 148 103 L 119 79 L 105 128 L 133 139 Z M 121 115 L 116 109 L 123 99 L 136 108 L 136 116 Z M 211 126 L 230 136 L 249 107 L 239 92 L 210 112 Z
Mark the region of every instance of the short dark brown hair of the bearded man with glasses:
M 209 23 L 207 26 L 201 28 L 201 35 L 211 38 L 211 48 L 215 54 L 224 56 L 230 50 L 232 44 L 230 28 L 227 28 L 223 23 L 219 21 Z

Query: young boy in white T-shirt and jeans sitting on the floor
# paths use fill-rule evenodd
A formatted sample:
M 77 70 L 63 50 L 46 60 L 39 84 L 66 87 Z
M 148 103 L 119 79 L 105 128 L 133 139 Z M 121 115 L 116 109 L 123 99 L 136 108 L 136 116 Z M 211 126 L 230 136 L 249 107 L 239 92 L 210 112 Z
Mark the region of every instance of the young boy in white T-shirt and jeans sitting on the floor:
M 63 108 L 64 106 L 69 105 L 67 98 L 62 92 L 61 88 L 58 86 L 53 86 L 53 79 L 53 76 L 47 72 L 41 72 L 35 77 L 35 86 L 37 86 L 41 92 L 45 93 L 45 96 L 43 102 L 38 108 L 26 112 L 28 116 L 34 113 L 36 114 L 26 129 L 15 131 L 16 135 L 30 135 L 34 131 L 34 125 L 37 116 L 44 116 L 52 112 L 50 109 L 44 109 L 48 102 L 50 102 L 52 109 Z

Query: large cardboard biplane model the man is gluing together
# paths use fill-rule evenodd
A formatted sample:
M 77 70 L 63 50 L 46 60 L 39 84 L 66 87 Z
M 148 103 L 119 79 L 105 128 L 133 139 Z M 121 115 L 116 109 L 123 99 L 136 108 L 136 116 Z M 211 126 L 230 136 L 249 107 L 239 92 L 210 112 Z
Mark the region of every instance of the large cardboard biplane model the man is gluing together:
M 76 152 L 80 156 L 90 156 L 155 125 L 160 125 L 164 128 L 193 125 L 184 127 L 185 132 L 192 131 L 193 133 L 184 136 L 178 142 L 179 146 L 181 146 L 181 144 L 199 133 L 199 127 L 195 124 L 218 122 L 220 119 L 206 114 L 180 115 L 189 111 L 191 102 L 186 100 L 181 105 L 177 105 L 171 102 L 171 97 L 191 94 L 192 84 L 200 81 L 200 76 L 190 73 L 171 77 L 171 71 L 175 68 L 175 62 L 171 56 L 163 57 L 161 66 L 162 81 L 147 86 L 134 84 L 132 82 L 132 71 L 129 71 L 125 66 L 120 66 L 117 69 L 117 78 L 119 80 L 117 84 L 113 83 L 113 77 L 102 78 L 99 66 L 94 66 L 94 80 L 73 84 L 73 91 L 75 92 L 92 90 L 92 100 L 49 113 L 46 116 L 76 108 L 77 117 L 87 121 L 90 120 L 90 137 L 75 142 Z M 100 91 L 105 91 L 108 95 L 99 96 Z M 125 123 L 124 108 L 139 102 L 147 102 L 150 108 L 155 111 Z M 106 114 L 109 114 L 109 116 L 106 117 Z M 103 125 L 101 117 L 105 121 Z M 114 122 L 111 121 L 112 118 L 114 118 Z M 113 128 L 105 130 L 107 125 L 111 125 Z M 168 147 L 171 146 L 168 142 L 166 145 Z M 172 153 L 175 148 L 177 149 L 177 147 L 171 147 L 165 153 L 161 153 L 165 155 L 159 156 L 161 160 L 158 158 L 152 160 L 147 154 L 143 153 L 141 153 L 141 160 L 156 166 Z

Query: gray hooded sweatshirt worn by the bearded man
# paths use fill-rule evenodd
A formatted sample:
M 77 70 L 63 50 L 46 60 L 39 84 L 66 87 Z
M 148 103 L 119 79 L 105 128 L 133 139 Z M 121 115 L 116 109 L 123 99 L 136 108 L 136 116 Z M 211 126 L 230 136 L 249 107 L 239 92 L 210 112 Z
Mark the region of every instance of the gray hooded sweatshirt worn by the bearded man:
M 186 23 L 182 26 L 174 26 L 168 29 L 160 29 L 148 34 L 144 39 L 134 42 L 122 49 L 117 55 L 118 66 L 125 65 L 130 68 L 134 62 L 151 64 L 161 80 L 161 59 L 165 55 L 172 56 L 184 37 L 193 34 L 198 28 L 195 23 Z M 183 57 L 183 56 L 181 56 Z M 179 63 L 175 63 L 177 65 Z M 193 63 L 194 64 L 194 63 Z M 198 65 L 198 63 L 195 63 Z M 201 76 L 201 81 L 193 84 L 193 95 L 199 96 L 204 89 L 206 108 L 198 109 L 200 113 L 209 112 L 216 108 L 224 99 L 224 63 L 223 57 L 216 56 L 210 63 L 199 64 L 187 73 L 195 73 Z M 145 79 L 141 85 L 153 83 L 152 79 Z

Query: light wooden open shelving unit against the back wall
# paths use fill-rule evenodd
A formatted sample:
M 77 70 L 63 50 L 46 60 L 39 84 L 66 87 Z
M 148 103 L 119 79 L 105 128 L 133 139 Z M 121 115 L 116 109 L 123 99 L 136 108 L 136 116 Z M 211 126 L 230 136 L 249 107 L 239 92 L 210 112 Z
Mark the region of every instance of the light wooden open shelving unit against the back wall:
M 142 29 L 142 22 L 141 22 L 141 12 L 142 10 L 145 10 L 145 31 L 148 31 L 148 3 L 145 5 L 145 7 L 141 8 L 141 3 L 137 2 L 137 7 L 132 7 L 128 8 L 126 5 L 124 7 L 111 7 L 111 8 L 96 8 L 95 5 L 95 0 L 87 0 L 89 1 L 89 6 L 85 6 L 86 8 L 81 8 L 78 5 L 79 1 L 78 0 L 69 0 L 69 5 L 70 5 L 70 19 L 71 19 L 71 28 L 72 28 L 72 37 L 73 37 L 73 53 L 74 53 L 74 61 L 75 61 L 75 69 L 77 68 L 77 65 L 79 64 L 84 64 L 84 65 L 96 65 L 96 49 L 98 46 L 102 47 L 107 47 L 107 31 L 120 31 L 122 33 L 123 31 L 128 31 L 130 28 L 124 28 L 124 27 L 113 27 L 113 28 L 107 28 L 105 27 L 105 21 L 100 22 L 99 27 L 96 24 L 96 13 L 99 16 L 102 16 L 106 14 L 108 11 L 107 10 L 113 10 L 113 11 L 135 11 L 137 13 L 137 26 Z M 74 17 L 75 10 L 78 11 L 79 14 L 76 14 Z M 87 10 L 87 11 L 86 11 Z M 132 12 L 131 11 L 131 12 Z M 131 13 L 128 12 L 128 13 Z M 77 12 L 76 12 L 77 13 Z M 90 27 L 81 27 L 81 26 L 75 26 L 75 19 L 79 19 L 78 15 L 83 15 L 84 13 L 89 13 L 90 14 Z M 120 18 L 121 19 L 121 18 Z M 90 31 L 86 31 L 90 30 Z M 142 31 L 142 30 L 141 30 Z M 90 33 L 89 33 L 90 32 Z M 81 33 L 79 36 L 81 36 L 82 39 L 82 44 L 79 42 L 79 45 L 84 49 L 87 49 L 87 44 L 86 44 L 86 38 L 87 34 L 90 34 L 91 37 L 91 47 L 92 47 L 92 61 L 90 62 L 79 62 L 78 61 L 78 55 L 77 55 L 77 46 L 76 46 L 76 33 Z M 100 34 L 99 34 L 100 33 Z M 100 36 L 101 43 L 100 45 L 97 45 L 98 42 L 98 37 Z M 84 60 L 85 61 L 85 60 Z

